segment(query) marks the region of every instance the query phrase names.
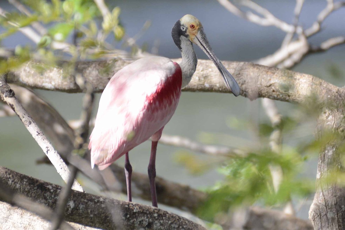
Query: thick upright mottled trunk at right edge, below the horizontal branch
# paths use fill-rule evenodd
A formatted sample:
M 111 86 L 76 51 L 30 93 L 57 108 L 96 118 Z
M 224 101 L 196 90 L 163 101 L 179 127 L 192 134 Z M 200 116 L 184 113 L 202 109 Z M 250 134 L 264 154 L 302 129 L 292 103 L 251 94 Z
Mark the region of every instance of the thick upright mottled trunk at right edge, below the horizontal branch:
M 344 113 L 343 109 L 325 111 L 319 120 L 319 138 L 322 130 L 339 134 L 320 150 L 316 176 L 316 193 L 309 210 L 309 219 L 315 230 L 345 229 L 344 167 Z

